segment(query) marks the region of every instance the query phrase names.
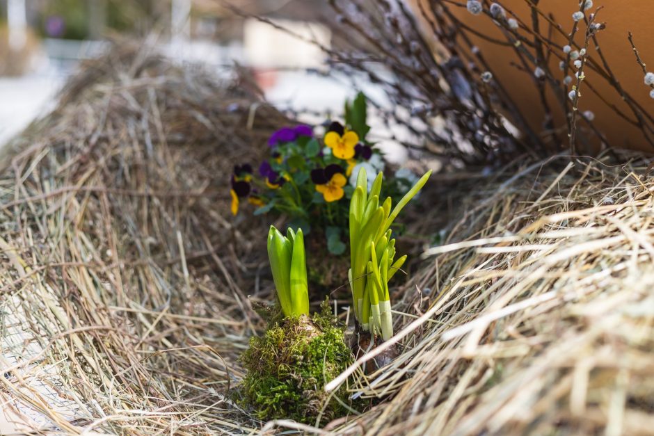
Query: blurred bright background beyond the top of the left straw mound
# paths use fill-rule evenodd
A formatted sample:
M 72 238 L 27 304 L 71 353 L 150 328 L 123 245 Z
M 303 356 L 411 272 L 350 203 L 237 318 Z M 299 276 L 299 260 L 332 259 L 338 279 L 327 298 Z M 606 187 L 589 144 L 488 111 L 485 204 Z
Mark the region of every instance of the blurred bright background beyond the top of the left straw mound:
M 232 5 L 239 13 L 218 0 L 0 0 L 0 147 L 51 108 L 79 62 L 101 55 L 108 38 L 144 38 L 176 62 L 216 74 L 244 65 L 270 102 L 305 117 L 340 113 L 356 89 L 383 101 L 362 78 L 327 76 L 324 52 L 303 41 L 339 45 L 330 30 L 336 17 L 325 1 Z M 385 148 L 393 150 L 392 144 Z M 394 160 L 401 160 L 397 150 Z

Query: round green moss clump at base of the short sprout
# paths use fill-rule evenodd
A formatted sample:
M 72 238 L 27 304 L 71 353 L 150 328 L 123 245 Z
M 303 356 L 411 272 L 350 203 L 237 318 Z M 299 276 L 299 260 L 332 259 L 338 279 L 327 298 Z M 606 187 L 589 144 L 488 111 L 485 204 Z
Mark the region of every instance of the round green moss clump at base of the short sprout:
M 241 384 L 242 402 L 260 419 L 315 423 L 319 414 L 328 421 L 346 412 L 323 389 L 352 362 L 328 304 L 311 319 L 303 315 L 271 324 L 262 337 L 250 339 L 241 362 L 248 370 Z M 335 396 L 346 403 L 344 387 Z

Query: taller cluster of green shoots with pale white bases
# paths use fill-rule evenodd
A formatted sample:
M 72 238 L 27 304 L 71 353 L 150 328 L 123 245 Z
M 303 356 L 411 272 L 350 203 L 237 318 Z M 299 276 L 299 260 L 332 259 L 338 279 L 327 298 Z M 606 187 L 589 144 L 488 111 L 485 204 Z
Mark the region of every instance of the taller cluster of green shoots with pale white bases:
M 395 239 L 391 229 L 395 218 L 422 189 L 431 170 L 413 185 L 391 211 L 392 200 L 379 204 L 382 173 L 368 192 L 365 169 L 361 168 L 350 202 L 350 269 L 354 314 L 364 331 L 381 334 L 387 341 L 393 335 L 388 282 L 404 265 L 406 255 L 395 260 Z

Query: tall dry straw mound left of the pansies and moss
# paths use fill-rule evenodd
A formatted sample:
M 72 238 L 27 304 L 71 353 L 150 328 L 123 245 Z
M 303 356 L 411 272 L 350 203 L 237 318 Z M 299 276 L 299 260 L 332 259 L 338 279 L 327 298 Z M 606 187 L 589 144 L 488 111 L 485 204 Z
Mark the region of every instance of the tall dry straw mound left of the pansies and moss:
M 0 180 L 3 410 L 70 433 L 256 426 L 223 394 L 261 328 L 247 296 L 268 297 L 250 236 L 266 225 L 223 212 L 233 163 L 287 120 L 212 77 L 117 47 L 15 141 Z

